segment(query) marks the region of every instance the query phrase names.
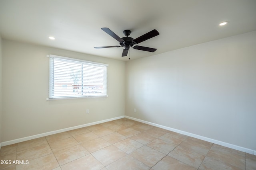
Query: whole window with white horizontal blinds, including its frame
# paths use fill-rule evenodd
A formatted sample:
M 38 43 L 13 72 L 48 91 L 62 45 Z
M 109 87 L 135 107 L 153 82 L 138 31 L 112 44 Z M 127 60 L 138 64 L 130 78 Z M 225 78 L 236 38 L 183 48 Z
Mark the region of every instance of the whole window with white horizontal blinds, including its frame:
M 49 57 L 49 98 L 107 96 L 107 66 L 78 59 Z

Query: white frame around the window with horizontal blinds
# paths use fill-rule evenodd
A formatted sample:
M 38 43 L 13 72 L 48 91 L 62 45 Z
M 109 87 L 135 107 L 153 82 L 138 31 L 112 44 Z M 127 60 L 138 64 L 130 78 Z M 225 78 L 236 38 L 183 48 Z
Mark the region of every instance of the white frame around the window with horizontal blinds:
M 108 64 L 103 64 L 103 63 L 97 63 L 97 62 L 92 62 L 92 61 L 86 61 L 86 60 L 80 60 L 80 59 L 74 59 L 74 58 L 69 58 L 69 57 L 62 57 L 58 55 L 46 55 L 46 57 L 49 58 L 49 87 L 48 87 L 48 98 L 46 100 L 63 100 L 63 99 L 76 99 L 76 98 L 99 98 L 99 97 L 108 97 L 107 94 L 107 67 Z M 54 92 L 54 62 L 52 59 L 63 59 L 66 61 L 74 62 L 74 63 L 82 63 L 82 64 L 88 64 L 88 65 L 94 65 L 94 66 L 104 66 L 104 85 L 103 85 L 103 95 L 83 95 L 81 94 L 80 96 L 53 96 L 52 92 Z M 82 68 L 81 68 L 82 70 Z M 82 71 L 83 72 L 83 71 Z M 81 72 L 81 74 L 83 74 Z

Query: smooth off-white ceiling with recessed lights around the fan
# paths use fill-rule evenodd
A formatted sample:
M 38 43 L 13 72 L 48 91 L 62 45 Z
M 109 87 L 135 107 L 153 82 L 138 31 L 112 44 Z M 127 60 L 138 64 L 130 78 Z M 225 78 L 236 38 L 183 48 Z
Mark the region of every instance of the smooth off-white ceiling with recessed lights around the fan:
M 2 39 L 128 61 L 122 47 L 94 49 L 119 45 L 101 27 L 119 37 L 130 29 L 134 39 L 156 29 L 160 35 L 138 44 L 154 53 L 130 49 L 138 59 L 254 31 L 256 0 L 0 0 Z

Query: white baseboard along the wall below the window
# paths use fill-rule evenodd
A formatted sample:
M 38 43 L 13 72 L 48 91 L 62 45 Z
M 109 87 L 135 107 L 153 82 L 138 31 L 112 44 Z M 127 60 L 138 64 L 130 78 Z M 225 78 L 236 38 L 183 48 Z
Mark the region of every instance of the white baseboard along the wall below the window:
M 53 134 L 56 134 L 56 133 L 71 131 L 71 130 L 74 130 L 74 129 L 79 129 L 79 128 L 82 128 L 82 127 L 96 125 L 96 124 L 99 124 L 99 123 L 104 123 L 104 122 L 107 122 L 107 121 L 112 121 L 112 120 L 121 119 L 121 118 L 124 118 L 124 116 L 114 117 L 114 118 L 111 118 L 111 119 L 105 119 L 105 120 L 101 120 L 101 121 L 95 121 L 95 122 L 92 122 L 92 123 L 86 123 L 84 125 L 68 127 L 68 128 L 65 128 L 65 129 L 60 129 L 60 130 L 56 130 L 56 131 L 41 133 L 41 134 L 38 134 L 38 135 L 29 136 L 29 137 L 23 137 L 23 138 L 19 138 L 19 139 L 14 139 L 14 140 L 11 140 L 11 141 L 6 141 L 6 142 L 0 143 L 0 147 L 1 146 L 6 146 L 6 145 L 12 145 L 14 143 L 28 141 L 28 140 L 31 140 L 31 139 L 36 139 L 36 138 L 39 138 L 39 137 L 45 137 L 45 136 L 48 136 L 48 135 L 53 135 Z

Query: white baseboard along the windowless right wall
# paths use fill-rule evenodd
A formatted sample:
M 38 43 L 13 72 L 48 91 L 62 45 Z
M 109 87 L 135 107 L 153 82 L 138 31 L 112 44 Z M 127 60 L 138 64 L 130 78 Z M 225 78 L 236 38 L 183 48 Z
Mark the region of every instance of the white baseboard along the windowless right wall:
M 203 136 L 196 135 L 196 134 L 189 133 L 189 132 L 180 131 L 178 129 L 174 129 L 174 128 L 171 128 L 171 127 L 166 127 L 166 126 L 163 126 L 163 125 L 158 125 L 156 123 L 151 123 L 151 122 L 144 121 L 144 120 L 141 120 L 141 119 L 137 119 L 137 118 L 134 118 L 134 117 L 130 117 L 130 116 L 124 116 L 124 117 L 126 117 L 128 119 L 135 120 L 135 121 L 139 121 L 141 123 L 152 125 L 152 126 L 155 126 L 155 127 L 160 127 L 162 129 L 166 129 L 168 131 L 173 131 L 173 132 L 176 132 L 176 133 L 180 133 L 182 135 L 187 135 L 187 136 L 190 136 L 190 137 L 201 139 L 203 141 L 207 141 L 207 142 L 210 142 L 210 143 L 218 144 L 218 145 L 221 145 L 221 146 L 224 146 L 224 147 L 228 147 L 228 148 L 231 148 L 231 149 L 235 149 L 235 150 L 239 150 L 239 151 L 242 151 L 242 152 L 246 152 L 246 153 L 249 153 L 249 154 L 256 155 L 256 150 L 240 147 L 240 146 L 233 145 L 233 144 L 230 144 L 230 143 L 225 143 L 225 142 L 222 142 L 222 141 L 218 141 L 218 140 L 211 139 L 211 138 L 208 138 L 208 137 L 203 137 Z

